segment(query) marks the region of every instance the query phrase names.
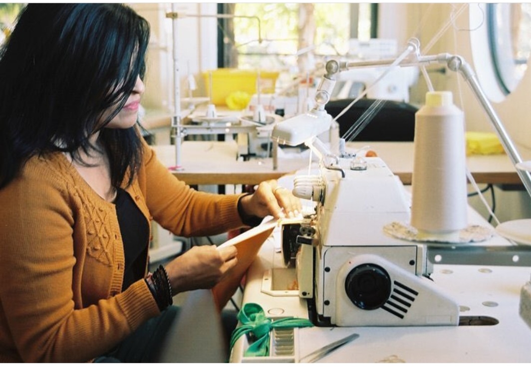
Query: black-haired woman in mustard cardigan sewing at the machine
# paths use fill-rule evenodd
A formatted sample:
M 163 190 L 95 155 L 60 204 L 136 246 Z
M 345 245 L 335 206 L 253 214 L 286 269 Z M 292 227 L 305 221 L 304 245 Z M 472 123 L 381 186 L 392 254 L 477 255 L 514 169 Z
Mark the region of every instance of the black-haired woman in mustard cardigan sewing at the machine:
M 123 5 L 30 4 L 0 50 L 0 362 L 123 360 L 135 336 L 130 361 L 156 360 L 157 337 L 136 333 L 158 333 L 172 295 L 215 285 L 236 250 L 148 274 L 150 221 L 199 236 L 300 209 L 276 181 L 200 193 L 158 162 L 135 126 L 148 41 Z

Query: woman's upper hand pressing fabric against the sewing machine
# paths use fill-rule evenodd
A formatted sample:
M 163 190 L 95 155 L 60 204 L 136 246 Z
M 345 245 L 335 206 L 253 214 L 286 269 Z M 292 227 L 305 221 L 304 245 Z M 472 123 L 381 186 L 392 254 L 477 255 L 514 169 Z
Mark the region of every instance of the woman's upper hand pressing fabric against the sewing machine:
M 302 211 L 301 200 L 292 192 L 278 186 L 277 180 L 263 181 L 252 195 L 242 197 L 241 206 L 246 215 L 276 219 L 293 218 Z

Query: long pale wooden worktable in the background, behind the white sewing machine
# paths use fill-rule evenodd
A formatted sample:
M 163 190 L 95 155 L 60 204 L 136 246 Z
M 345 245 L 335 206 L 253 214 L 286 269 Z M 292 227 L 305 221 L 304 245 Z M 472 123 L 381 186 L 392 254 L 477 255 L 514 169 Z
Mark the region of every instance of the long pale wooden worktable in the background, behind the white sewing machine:
M 353 152 L 368 145 L 378 154 L 404 185 L 412 182 L 414 145 L 412 142 L 350 142 Z M 160 160 L 168 167 L 175 165 L 175 146 L 154 146 Z M 531 159 L 531 150 L 518 147 L 524 160 Z M 306 155 L 301 158 L 279 159 L 273 169 L 271 158 L 237 161 L 236 142 L 185 141 L 181 148 L 182 170 L 173 173 L 189 185 L 256 185 L 264 180 L 278 179 L 308 166 Z M 467 167 L 477 183 L 515 185 L 520 178 L 506 154 L 467 157 Z

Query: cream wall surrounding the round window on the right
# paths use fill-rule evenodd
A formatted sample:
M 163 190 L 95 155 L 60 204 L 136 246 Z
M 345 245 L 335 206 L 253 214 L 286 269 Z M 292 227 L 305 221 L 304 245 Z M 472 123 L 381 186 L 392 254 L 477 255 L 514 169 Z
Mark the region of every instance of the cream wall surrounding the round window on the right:
M 463 56 L 474 69 L 488 62 L 489 55 L 472 54 L 471 38 L 484 32 L 484 22 L 470 22 L 469 11 L 477 11 L 478 4 L 460 3 L 382 3 L 379 12 L 379 34 L 382 38 L 396 37 L 405 45 L 411 37 L 421 41 L 421 53 L 434 55 L 450 53 Z M 477 42 L 477 40 L 474 40 Z M 477 46 L 477 45 L 476 45 Z M 426 47 L 430 47 L 426 50 Z M 430 66 L 430 69 L 436 69 Z M 515 143 L 531 148 L 531 67 L 518 88 L 501 102 L 492 102 L 509 135 Z M 435 90 L 450 90 L 456 104 L 465 111 L 466 129 L 493 132 L 493 128 L 473 93 L 463 79 L 454 72 L 429 73 Z M 427 91 L 423 77 L 410 92 L 412 103 L 422 105 Z M 483 186 L 483 185 L 482 185 Z M 470 187 L 472 191 L 472 187 Z M 495 214 L 500 222 L 531 217 L 531 199 L 527 191 L 506 191 L 495 188 Z M 486 196 L 491 205 L 490 195 Z M 477 197 L 470 205 L 488 217 Z

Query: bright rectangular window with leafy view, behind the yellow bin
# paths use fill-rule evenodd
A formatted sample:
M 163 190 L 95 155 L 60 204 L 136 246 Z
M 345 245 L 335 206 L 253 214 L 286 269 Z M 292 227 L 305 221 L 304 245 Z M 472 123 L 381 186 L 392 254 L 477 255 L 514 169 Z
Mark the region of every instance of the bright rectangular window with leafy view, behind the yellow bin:
M 220 67 L 294 69 L 347 55 L 349 39 L 375 38 L 376 4 L 220 4 Z M 302 61 L 301 61 L 302 59 Z M 311 67 L 313 67 L 312 65 Z

